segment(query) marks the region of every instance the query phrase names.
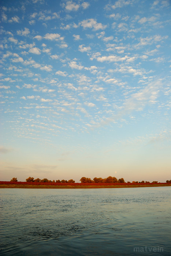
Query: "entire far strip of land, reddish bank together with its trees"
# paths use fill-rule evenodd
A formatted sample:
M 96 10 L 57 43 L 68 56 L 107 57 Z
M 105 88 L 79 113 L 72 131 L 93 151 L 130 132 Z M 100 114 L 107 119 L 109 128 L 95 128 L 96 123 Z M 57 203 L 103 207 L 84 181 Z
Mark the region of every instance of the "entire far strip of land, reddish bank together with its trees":
M 17 178 L 12 178 L 11 181 L 0 181 L 0 188 L 130 188 L 130 187 L 163 187 L 171 186 L 171 180 L 167 180 L 166 183 L 160 183 L 158 181 L 127 181 L 123 178 L 116 179 L 116 177 L 109 176 L 107 178 L 94 177 L 90 178 L 82 177 L 81 183 L 75 183 L 73 179 L 70 180 L 48 180 L 34 179 L 29 177 L 26 181 L 18 181 Z

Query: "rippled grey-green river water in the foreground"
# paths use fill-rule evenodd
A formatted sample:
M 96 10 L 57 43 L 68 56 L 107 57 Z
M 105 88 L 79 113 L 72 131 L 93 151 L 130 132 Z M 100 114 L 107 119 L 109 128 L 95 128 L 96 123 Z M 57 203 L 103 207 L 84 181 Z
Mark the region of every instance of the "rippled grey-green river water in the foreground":
M 1 255 L 171 255 L 171 187 L 1 189 Z

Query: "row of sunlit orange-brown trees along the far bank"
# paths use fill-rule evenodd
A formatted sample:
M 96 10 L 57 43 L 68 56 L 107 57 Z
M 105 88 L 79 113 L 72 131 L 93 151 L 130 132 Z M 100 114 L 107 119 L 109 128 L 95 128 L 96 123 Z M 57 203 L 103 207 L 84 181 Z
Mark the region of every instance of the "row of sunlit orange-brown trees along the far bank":
M 18 181 L 17 178 L 12 178 L 10 181 Z M 53 183 L 75 183 L 75 180 L 73 179 L 70 179 L 70 180 L 48 180 L 47 178 L 44 178 L 44 179 L 34 179 L 33 177 L 29 177 L 26 179 L 27 182 L 53 182 Z M 81 183 L 124 183 L 124 179 L 123 178 L 120 178 L 120 179 L 116 179 L 116 177 L 112 177 L 112 176 L 109 176 L 107 178 L 97 178 L 97 177 L 94 177 L 93 180 L 91 180 L 90 178 L 86 178 L 86 177 L 82 177 L 80 179 Z M 127 183 L 146 183 L 146 184 L 149 184 L 150 181 L 127 181 Z M 152 181 L 152 183 L 158 183 L 158 181 Z M 171 183 L 171 180 L 167 180 L 166 183 Z

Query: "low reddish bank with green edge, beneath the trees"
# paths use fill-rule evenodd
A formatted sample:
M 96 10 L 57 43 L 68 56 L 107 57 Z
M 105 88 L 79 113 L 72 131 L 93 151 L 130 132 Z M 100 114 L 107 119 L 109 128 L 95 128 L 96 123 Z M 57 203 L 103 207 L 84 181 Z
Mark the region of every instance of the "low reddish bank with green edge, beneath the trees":
M 79 185 L 34 185 L 34 184 L 0 184 L 0 188 L 49 188 L 49 189 L 68 189 L 68 188 L 143 188 L 143 187 L 169 187 L 171 183 L 166 184 L 136 184 L 136 185 L 85 185 L 83 183 Z

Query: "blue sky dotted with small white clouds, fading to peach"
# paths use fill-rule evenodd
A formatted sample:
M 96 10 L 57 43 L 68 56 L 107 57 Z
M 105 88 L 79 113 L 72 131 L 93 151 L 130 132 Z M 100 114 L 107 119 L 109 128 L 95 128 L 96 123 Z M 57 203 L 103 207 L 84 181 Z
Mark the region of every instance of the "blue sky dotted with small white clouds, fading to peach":
M 171 1 L 1 1 L 0 180 L 171 179 Z

